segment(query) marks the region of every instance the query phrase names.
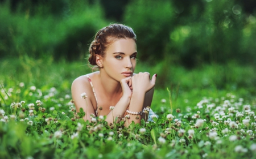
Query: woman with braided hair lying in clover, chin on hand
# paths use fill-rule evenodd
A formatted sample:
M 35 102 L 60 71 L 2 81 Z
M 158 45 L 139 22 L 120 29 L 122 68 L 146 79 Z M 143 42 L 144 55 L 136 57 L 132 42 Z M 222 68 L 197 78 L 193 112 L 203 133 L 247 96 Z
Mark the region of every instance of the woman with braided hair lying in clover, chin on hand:
M 131 121 L 140 123 L 146 118 L 142 110 L 151 105 L 157 75 L 150 80 L 148 72 L 133 73 L 136 41 L 133 29 L 123 24 L 111 24 L 97 32 L 88 61 L 99 71 L 75 79 L 71 88 L 76 110 L 84 109 L 85 120 L 91 121 L 90 114 L 106 115 L 110 124 L 116 117 L 129 115 L 125 122 L 129 126 Z M 81 98 L 84 92 L 86 99 Z

